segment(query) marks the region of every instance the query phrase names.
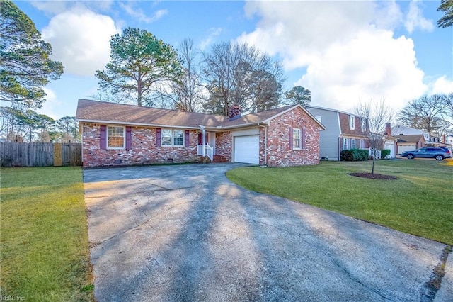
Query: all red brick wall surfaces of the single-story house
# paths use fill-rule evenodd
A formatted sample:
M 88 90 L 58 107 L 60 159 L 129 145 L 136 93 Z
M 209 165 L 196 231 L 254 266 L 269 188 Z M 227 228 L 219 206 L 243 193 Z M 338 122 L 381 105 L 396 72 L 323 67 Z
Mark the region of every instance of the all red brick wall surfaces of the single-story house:
M 100 146 L 101 125 L 82 123 L 81 126 L 84 167 L 201 161 L 200 156 L 197 156 L 197 130 L 189 131 L 189 146 L 157 147 L 156 128 L 133 126 L 131 150 L 103 150 Z M 294 150 L 289 145 L 289 133 L 292 128 L 305 129 L 305 148 Z M 270 167 L 319 164 L 319 125 L 302 108 L 295 108 L 274 118 L 267 129 L 259 128 L 259 136 L 260 164 L 267 164 Z M 231 162 L 233 133 L 231 131 L 216 133 L 215 142 L 217 159 Z

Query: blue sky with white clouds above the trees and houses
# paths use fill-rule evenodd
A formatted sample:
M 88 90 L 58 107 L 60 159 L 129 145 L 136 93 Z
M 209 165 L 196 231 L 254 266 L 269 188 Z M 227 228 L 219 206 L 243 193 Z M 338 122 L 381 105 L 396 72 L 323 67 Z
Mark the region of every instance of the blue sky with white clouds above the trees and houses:
M 46 86 L 40 113 L 74 116 L 96 94 L 108 40 L 142 28 L 178 47 L 255 45 L 281 60 L 314 106 L 354 111 L 360 99 L 386 99 L 396 111 L 423 94 L 453 92 L 453 28 L 437 28 L 440 1 L 15 1 L 65 66 Z

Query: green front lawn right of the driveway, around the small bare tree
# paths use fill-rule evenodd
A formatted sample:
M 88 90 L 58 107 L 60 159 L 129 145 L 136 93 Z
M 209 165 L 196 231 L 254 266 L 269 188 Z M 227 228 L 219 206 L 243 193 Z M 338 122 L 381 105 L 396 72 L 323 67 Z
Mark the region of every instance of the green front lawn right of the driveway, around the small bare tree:
M 343 213 L 453 245 L 453 166 L 448 161 L 381 160 L 375 173 L 396 180 L 351 177 L 371 162 L 317 166 L 242 167 L 226 173 L 246 189 Z

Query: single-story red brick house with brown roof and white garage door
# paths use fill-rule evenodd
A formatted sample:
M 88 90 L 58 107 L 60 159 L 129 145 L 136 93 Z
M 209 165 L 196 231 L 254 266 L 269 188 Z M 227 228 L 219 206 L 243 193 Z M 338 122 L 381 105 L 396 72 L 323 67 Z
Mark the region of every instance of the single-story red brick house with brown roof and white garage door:
M 79 99 L 76 119 L 84 167 L 165 162 L 319 164 L 319 131 L 304 107 L 230 117 Z

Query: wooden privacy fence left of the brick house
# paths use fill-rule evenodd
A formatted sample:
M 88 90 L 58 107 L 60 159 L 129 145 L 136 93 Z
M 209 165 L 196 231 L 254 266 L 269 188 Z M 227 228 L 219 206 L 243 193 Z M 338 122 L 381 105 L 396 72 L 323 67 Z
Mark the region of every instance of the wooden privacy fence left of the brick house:
M 81 143 L 1 142 L 1 167 L 81 166 Z

